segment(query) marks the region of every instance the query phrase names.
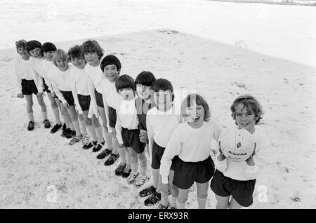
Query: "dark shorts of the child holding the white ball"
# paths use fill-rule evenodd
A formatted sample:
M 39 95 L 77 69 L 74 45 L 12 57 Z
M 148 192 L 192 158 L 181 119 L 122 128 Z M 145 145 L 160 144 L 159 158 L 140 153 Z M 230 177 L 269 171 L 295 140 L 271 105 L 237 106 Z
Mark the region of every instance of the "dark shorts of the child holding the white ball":
M 256 180 L 233 180 L 216 170 L 211 180 L 211 189 L 218 196 L 232 196 L 239 205 L 249 207 L 253 203 Z

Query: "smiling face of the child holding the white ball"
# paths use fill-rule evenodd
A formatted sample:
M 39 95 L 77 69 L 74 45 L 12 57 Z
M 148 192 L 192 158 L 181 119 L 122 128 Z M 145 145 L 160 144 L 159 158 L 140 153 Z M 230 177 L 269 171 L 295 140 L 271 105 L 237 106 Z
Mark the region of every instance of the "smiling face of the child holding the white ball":
M 237 125 L 240 128 L 248 130 L 251 134 L 254 133 L 256 120 L 258 119 L 256 118 L 254 112 L 247 112 L 247 109 L 244 106 L 244 104 L 237 104 L 235 109 Z

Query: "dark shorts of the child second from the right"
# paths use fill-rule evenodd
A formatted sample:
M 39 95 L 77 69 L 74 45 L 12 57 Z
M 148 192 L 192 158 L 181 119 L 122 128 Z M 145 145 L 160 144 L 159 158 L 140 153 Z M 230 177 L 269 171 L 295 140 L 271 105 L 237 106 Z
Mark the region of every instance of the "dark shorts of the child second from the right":
M 180 189 L 189 189 L 194 182 L 209 182 L 215 170 L 211 156 L 199 162 L 185 162 L 178 158 L 174 166 L 173 184 Z

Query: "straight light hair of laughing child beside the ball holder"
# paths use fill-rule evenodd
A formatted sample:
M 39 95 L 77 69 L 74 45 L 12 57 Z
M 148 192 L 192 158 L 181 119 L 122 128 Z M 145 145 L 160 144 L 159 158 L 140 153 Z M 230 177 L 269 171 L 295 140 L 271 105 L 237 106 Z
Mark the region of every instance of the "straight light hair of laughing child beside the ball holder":
M 197 94 L 190 94 L 185 97 L 181 104 L 181 115 L 185 117 L 185 109 L 192 106 L 192 102 L 195 102 L 197 105 L 202 105 L 204 108 L 204 121 L 209 121 L 211 119 L 211 112 L 209 112 L 209 104 L 206 100 Z

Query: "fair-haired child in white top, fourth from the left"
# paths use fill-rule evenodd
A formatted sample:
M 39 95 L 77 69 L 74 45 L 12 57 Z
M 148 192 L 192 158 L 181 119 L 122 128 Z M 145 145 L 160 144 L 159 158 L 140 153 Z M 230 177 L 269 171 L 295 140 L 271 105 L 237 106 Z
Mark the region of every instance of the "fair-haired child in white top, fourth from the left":
M 71 86 L 71 65 L 68 65 L 68 57 L 64 50 L 58 49 L 55 50 L 53 54 L 53 64 L 55 67 L 58 67 L 58 70 L 53 74 L 53 78 L 51 79 L 51 83 L 53 85 L 53 89 L 55 90 L 55 94 L 62 102 L 62 106 L 64 106 L 70 114 L 72 124 L 74 126 L 74 130 L 72 130 L 72 136 L 75 136 L 72 140 L 70 140 L 70 145 L 73 145 L 79 142 L 82 139 L 82 134 L 79 126 L 78 115 L 76 109 L 74 108 L 74 97 L 72 95 L 72 86 Z

